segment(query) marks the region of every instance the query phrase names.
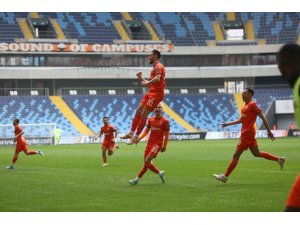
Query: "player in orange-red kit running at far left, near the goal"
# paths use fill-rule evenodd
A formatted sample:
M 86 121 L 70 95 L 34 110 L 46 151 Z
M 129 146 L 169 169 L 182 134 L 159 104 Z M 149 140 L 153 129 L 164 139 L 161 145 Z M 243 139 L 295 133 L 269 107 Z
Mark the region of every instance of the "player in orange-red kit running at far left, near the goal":
M 20 120 L 19 119 L 14 119 L 13 125 L 15 126 L 15 137 L 14 137 L 14 142 L 16 143 L 16 150 L 15 154 L 12 160 L 12 164 L 8 167 L 6 167 L 9 170 L 12 170 L 15 168 L 15 163 L 18 160 L 19 153 L 24 152 L 26 155 L 36 155 L 39 154 L 41 156 L 44 156 L 44 153 L 40 150 L 29 150 L 27 147 L 27 142 L 25 138 L 23 137 L 24 130 L 23 128 L 19 125 Z

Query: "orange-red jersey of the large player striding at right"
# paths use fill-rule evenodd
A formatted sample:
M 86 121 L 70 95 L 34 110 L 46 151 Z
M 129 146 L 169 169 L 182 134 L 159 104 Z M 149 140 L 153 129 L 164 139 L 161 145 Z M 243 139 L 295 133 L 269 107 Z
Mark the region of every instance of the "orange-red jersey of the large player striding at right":
M 244 105 L 241 110 L 242 132 L 241 138 L 255 138 L 255 122 L 261 109 L 254 101 Z

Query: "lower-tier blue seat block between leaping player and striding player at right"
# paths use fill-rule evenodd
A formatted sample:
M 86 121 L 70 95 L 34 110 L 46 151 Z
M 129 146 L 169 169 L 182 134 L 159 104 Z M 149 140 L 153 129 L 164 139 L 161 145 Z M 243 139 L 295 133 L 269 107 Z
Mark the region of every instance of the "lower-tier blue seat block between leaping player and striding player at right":
M 191 125 L 202 131 L 220 131 L 221 123 L 239 118 L 231 94 L 167 95 L 165 102 Z M 223 130 L 239 130 L 230 126 Z

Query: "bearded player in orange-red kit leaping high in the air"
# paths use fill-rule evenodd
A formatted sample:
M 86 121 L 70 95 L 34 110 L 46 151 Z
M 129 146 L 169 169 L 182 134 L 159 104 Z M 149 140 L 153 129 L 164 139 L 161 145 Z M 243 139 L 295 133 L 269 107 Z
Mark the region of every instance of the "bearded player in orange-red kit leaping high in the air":
M 154 49 L 148 57 L 150 64 L 153 64 L 149 81 L 143 78 L 141 72 L 136 74 L 141 85 L 149 88 L 149 91 L 143 96 L 135 112 L 130 132 L 120 137 L 131 139 L 130 142 L 132 143 L 138 142 L 138 137 L 146 125 L 148 115 L 164 98 L 166 72 L 164 66 L 159 62 L 160 56 L 160 52 Z

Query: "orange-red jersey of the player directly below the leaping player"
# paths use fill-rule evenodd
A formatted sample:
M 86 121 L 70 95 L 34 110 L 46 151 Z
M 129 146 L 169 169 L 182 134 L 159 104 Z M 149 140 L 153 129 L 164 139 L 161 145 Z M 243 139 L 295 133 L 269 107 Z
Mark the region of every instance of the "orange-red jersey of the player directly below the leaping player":
M 147 127 L 151 129 L 148 143 L 162 144 L 165 132 L 170 130 L 169 121 L 163 116 L 159 118 L 152 116 L 148 120 Z

